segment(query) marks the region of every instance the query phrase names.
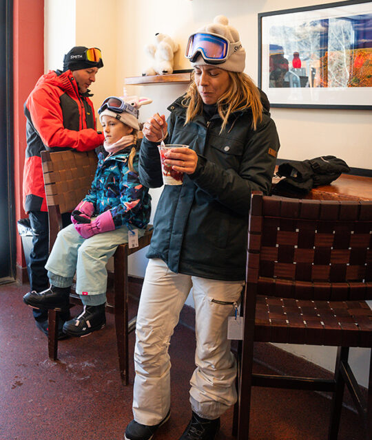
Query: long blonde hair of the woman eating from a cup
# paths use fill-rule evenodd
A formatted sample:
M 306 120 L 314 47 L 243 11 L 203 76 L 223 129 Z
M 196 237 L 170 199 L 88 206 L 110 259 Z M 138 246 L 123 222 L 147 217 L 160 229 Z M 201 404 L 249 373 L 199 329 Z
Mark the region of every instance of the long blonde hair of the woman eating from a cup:
M 239 111 L 247 107 L 251 108 L 253 119 L 252 128 L 256 130 L 257 123 L 262 120 L 262 102 L 260 91 L 253 80 L 243 72 L 229 72 L 230 84 L 227 91 L 216 102 L 218 114 L 223 120 L 220 133 L 227 126 L 229 115 L 233 111 Z M 195 71 L 192 72 L 192 83 L 189 85 L 182 104 L 187 108 L 185 124 L 191 122 L 203 109 L 203 100 L 198 93 L 194 80 Z

